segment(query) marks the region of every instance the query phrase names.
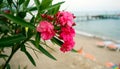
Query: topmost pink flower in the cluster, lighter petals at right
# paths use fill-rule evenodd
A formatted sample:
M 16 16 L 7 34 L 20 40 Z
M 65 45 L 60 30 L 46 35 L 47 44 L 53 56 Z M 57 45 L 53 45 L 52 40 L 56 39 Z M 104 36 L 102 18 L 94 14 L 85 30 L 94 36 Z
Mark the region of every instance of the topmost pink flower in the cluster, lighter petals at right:
M 60 24 L 61 26 L 67 25 L 71 27 L 74 24 L 73 19 L 75 16 L 73 16 L 73 14 L 71 14 L 70 12 L 65 11 L 58 12 L 56 16 L 57 23 Z

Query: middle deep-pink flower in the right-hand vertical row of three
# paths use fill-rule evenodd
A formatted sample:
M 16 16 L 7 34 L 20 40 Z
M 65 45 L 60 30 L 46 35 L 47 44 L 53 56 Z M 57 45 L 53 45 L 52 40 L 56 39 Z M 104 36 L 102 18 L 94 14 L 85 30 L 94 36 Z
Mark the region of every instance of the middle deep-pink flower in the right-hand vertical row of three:
M 72 27 L 62 27 L 60 38 L 64 41 L 70 41 L 73 40 L 73 37 L 75 36 L 75 30 Z

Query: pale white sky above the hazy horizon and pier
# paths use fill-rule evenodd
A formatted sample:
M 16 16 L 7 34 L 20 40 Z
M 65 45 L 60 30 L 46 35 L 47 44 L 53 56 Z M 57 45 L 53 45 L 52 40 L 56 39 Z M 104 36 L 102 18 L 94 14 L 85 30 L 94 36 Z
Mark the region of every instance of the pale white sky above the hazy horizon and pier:
M 116 11 L 120 10 L 120 0 L 54 0 L 65 1 L 61 10 L 68 11 Z

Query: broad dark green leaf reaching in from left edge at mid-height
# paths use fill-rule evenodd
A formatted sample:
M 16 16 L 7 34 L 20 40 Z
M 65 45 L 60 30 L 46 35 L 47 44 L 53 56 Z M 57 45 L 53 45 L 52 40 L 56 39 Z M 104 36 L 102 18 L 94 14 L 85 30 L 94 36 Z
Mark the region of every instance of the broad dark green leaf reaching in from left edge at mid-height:
M 13 35 L 13 36 L 9 36 L 6 38 L 1 38 L 0 39 L 0 48 L 3 47 L 10 47 L 11 45 L 18 43 L 22 40 L 26 39 L 24 35 L 22 34 L 18 34 L 18 35 Z

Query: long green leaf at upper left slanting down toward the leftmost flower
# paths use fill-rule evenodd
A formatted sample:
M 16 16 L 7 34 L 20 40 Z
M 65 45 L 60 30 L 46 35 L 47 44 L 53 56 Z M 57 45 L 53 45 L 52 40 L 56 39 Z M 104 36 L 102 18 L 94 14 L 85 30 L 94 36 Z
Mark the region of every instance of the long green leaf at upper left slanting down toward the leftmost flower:
M 6 18 L 12 20 L 13 22 L 15 22 L 16 24 L 19 24 L 19 25 L 22 25 L 24 27 L 29 27 L 31 29 L 35 29 L 35 26 L 32 25 L 31 23 L 28 23 L 26 21 L 24 21 L 23 19 L 19 18 L 19 17 L 15 17 L 13 15 L 10 15 L 10 14 L 5 14 L 5 13 L 2 13 Z

